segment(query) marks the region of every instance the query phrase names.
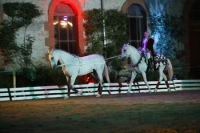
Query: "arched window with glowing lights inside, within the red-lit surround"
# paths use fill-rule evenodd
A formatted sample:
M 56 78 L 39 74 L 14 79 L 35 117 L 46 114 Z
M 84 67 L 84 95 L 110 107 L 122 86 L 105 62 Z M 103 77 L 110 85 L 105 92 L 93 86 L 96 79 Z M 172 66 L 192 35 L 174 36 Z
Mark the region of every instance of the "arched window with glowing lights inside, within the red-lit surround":
M 69 5 L 59 3 L 56 6 L 53 25 L 55 48 L 76 53 L 76 14 Z

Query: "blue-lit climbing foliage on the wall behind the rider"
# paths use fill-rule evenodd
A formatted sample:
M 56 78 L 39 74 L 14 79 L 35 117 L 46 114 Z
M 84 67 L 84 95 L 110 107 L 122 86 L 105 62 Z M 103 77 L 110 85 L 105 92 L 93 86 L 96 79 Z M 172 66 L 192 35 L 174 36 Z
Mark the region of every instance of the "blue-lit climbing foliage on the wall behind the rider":
M 172 3 L 176 2 L 146 0 L 152 35 L 157 37 L 156 52 L 175 59 L 178 50 L 176 46 L 183 41 L 183 19 L 182 14 L 172 14 L 170 11 L 172 8 L 170 4 Z

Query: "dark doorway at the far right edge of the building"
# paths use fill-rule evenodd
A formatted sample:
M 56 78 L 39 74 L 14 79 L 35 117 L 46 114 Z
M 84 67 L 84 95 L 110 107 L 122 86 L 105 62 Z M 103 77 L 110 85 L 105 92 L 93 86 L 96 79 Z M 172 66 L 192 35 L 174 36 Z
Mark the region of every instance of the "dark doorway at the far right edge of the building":
M 200 1 L 194 0 L 189 12 L 190 77 L 200 78 Z

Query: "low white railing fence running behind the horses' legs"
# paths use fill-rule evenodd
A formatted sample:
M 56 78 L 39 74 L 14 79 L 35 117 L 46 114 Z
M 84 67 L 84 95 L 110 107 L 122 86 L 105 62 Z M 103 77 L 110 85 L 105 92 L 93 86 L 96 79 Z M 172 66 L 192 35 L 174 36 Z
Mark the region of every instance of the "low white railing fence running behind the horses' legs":
M 154 92 L 157 81 L 149 81 L 151 91 Z M 200 90 L 200 80 L 173 80 L 169 81 L 171 91 Z M 97 94 L 97 84 L 75 85 L 77 90 L 82 90 L 82 96 L 93 96 Z M 110 88 L 112 94 L 127 93 L 127 83 L 105 83 L 103 95 L 108 95 Z M 0 88 L 0 101 L 30 100 L 44 98 L 63 98 L 67 95 L 67 86 L 59 88 L 58 86 L 41 87 L 21 87 L 21 88 Z M 157 92 L 167 92 L 165 82 L 161 82 Z M 131 93 L 148 93 L 148 88 L 144 82 L 132 84 Z M 71 91 L 70 96 L 79 96 Z

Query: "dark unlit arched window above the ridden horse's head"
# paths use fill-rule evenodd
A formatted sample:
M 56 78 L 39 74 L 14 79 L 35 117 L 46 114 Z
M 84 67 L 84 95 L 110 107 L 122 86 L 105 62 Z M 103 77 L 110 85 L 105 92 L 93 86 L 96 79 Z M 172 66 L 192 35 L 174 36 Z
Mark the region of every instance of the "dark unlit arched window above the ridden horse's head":
M 129 39 L 132 45 L 140 46 L 143 33 L 147 30 L 146 13 L 139 4 L 132 4 L 128 7 Z

